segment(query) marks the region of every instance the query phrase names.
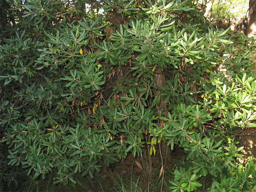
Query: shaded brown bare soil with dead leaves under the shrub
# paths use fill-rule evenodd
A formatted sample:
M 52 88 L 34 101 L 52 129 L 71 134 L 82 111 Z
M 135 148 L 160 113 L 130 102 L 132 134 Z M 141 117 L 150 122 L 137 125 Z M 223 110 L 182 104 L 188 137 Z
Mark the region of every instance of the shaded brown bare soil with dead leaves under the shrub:
M 166 169 L 169 170 L 173 170 L 173 167 L 175 166 L 175 164 L 181 159 L 182 156 L 186 156 L 185 153 L 183 153 L 182 149 L 180 149 L 179 147 L 177 147 L 175 150 L 171 151 L 171 163 L 169 164 L 165 164 L 164 163 L 164 172 Z M 166 157 L 167 158 L 167 157 Z M 126 156 L 126 158 L 123 158 L 123 160 L 120 160 L 120 162 L 107 167 L 104 165 L 103 162 L 100 162 L 100 164 L 102 165 L 101 167 L 101 171 L 98 173 L 99 176 L 101 176 L 102 178 L 102 183 L 106 186 L 102 186 L 103 188 L 105 188 L 106 190 L 104 191 L 108 191 L 109 188 L 111 187 L 118 187 L 118 182 L 119 184 L 121 184 L 118 175 L 120 177 L 123 177 L 123 182 L 129 184 L 131 181 L 131 177 L 132 180 L 134 182 L 137 182 L 138 178 L 140 177 L 139 183 L 141 186 L 141 190 L 142 191 L 147 191 L 148 188 L 148 173 L 146 171 L 146 167 L 145 164 L 145 160 L 144 163 L 142 162 L 144 158 L 141 158 L 140 156 L 135 156 L 133 157 L 133 155 L 130 153 Z M 160 152 L 159 149 L 156 152 L 156 155 L 152 155 L 151 156 L 152 159 L 152 177 L 150 178 L 151 180 L 151 185 L 156 184 L 156 178 L 159 178 L 160 176 L 160 169 L 158 168 L 159 165 L 162 164 L 161 161 L 161 156 L 160 156 Z M 137 162 L 137 163 L 136 163 Z M 157 169 L 158 168 L 158 169 Z M 161 167 L 160 167 L 161 168 Z M 162 178 L 162 176 L 161 176 Z M 168 177 L 168 174 L 166 173 L 164 175 L 164 179 L 167 181 L 170 179 L 170 177 Z M 162 183 L 162 180 L 160 179 L 158 181 L 158 183 Z M 99 186 L 98 191 L 102 191 L 101 186 Z M 151 189 L 151 191 L 156 191 L 156 187 L 153 187 Z M 168 189 L 166 190 L 166 187 L 163 185 L 163 191 L 168 191 Z

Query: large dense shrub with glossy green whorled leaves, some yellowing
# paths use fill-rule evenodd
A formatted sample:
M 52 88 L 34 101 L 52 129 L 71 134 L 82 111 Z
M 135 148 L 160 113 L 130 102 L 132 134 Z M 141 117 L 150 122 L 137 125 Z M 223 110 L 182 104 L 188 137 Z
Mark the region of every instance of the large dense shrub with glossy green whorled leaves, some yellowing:
M 187 153 L 170 190 L 255 190 L 255 160 L 240 164 L 236 146 L 256 127 L 254 40 L 214 28 L 193 1 L 105 0 L 103 15 L 86 2 L 0 1 L 2 186 L 53 170 L 76 184 L 99 160 L 149 158 L 164 142 Z

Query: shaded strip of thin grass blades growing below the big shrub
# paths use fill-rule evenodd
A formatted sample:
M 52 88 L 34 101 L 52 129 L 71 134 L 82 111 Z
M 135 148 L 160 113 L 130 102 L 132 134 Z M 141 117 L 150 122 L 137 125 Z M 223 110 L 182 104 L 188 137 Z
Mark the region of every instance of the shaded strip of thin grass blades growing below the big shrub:
M 134 164 L 132 164 L 131 175 L 126 176 L 123 173 L 119 175 L 115 171 L 115 175 L 108 174 L 107 177 L 100 175 L 99 173 L 94 175 L 94 178 L 79 174 L 75 175 L 74 180 L 76 184 L 69 184 L 63 186 L 62 184 L 53 184 L 53 178 L 57 175 L 57 172 L 53 171 L 52 174 L 48 174 L 45 179 L 41 177 L 36 180 L 33 176 L 26 174 L 26 172 L 16 172 L 15 176 L 12 175 L 13 180 L 9 183 L 4 182 L 2 179 L 0 191 L 35 191 L 35 192 L 50 192 L 50 191 L 111 191 L 111 192 L 149 192 L 159 191 L 161 187 L 161 178 L 158 177 L 159 169 L 156 169 L 154 180 L 150 181 L 150 175 L 141 173 L 136 175 Z M 168 175 L 168 170 L 166 170 Z M 152 177 L 151 177 L 152 178 Z M 168 180 L 168 179 L 167 179 Z M 15 185 L 16 183 L 16 185 Z M 165 182 L 164 182 L 165 183 Z M 167 183 L 165 183 L 167 185 Z

